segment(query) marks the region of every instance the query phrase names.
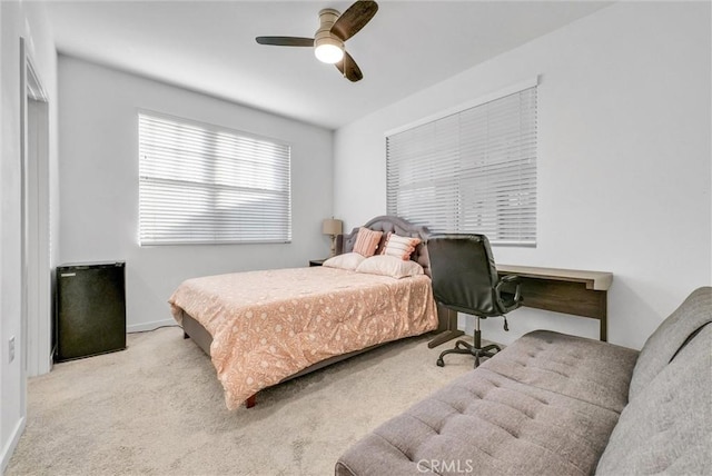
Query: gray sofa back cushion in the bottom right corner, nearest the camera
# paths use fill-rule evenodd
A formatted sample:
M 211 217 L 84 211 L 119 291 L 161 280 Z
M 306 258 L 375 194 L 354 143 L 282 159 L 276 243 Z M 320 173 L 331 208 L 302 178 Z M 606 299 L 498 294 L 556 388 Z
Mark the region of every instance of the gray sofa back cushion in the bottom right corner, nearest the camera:
M 621 414 L 596 474 L 712 474 L 712 325 Z

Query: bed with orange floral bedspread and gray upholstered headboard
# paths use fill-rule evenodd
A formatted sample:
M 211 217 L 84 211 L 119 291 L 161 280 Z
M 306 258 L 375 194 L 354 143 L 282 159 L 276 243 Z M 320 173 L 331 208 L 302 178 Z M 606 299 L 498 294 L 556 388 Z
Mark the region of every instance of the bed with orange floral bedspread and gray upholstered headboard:
M 352 256 L 360 228 L 337 238 L 338 255 Z M 422 241 L 427 236 L 425 227 L 389 216 L 363 228 L 383 231 L 376 256 L 389 232 Z M 422 274 L 402 279 L 326 266 L 188 279 L 169 299 L 171 314 L 185 337 L 210 356 L 227 408 L 243 401 L 251 407 L 264 388 L 435 330 L 427 248 L 414 248 L 411 261 Z

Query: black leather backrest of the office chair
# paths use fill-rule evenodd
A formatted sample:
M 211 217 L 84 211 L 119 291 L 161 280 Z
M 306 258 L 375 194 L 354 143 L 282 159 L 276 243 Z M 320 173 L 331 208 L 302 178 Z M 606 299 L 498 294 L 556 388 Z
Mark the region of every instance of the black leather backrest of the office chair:
M 484 235 L 434 235 L 427 240 L 435 300 L 481 317 L 500 316 L 497 268 Z

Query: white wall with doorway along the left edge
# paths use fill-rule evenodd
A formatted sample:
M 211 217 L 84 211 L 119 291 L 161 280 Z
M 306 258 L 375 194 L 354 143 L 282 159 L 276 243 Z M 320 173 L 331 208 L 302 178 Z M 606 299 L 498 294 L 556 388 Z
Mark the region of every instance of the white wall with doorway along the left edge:
M 44 6 L 37 2 L 0 2 L 0 472 L 7 466 L 24 427 L 26 370 L 22 366 L 27 336 L 21 309 L 21 128 L 20 37 L 26 39 L 38 76 L 49 96 L 49 168 L 57 170 L 57 54 L 49 37 Z M 50 177 L 50 196 L 57 194 Z M 51 212 L 51 211 L 50 211 Z M 41 217 L 50 219 L 50 217 Z M 57 237 L 55 217 L 51 230 Z M 50 258 L 55 262 L 55 257 Z M 46 270 L 49 272 L 49 270 Z M 47 316 L 49 318 L 49 316 Z M 8 344 L 16 338 L 16 358 L 9 361 Z

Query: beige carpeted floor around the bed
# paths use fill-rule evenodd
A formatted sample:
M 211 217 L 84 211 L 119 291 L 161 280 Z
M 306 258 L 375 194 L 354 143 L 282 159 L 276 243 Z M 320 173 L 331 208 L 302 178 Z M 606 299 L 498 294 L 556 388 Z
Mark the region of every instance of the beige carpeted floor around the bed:
M 209 358 L 182 330 L 55 366 L 28 383 L 28 422 L 6 475 L 333 475 L 363 435 L 471 370 L 429 336 L 263 390 L 228 411 Z

